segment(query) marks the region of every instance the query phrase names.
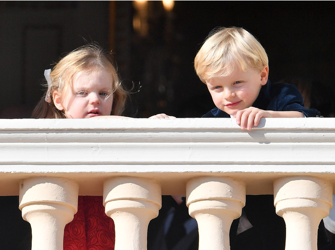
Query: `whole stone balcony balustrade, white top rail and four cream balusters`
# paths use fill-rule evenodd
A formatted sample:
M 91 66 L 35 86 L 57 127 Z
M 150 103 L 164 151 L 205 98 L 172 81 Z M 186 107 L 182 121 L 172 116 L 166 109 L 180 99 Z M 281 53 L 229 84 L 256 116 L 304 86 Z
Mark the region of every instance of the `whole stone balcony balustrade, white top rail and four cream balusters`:
M 334 183 L 335 118 L 266 118 L 252 131 L 230 118 L 0 123 L 0 195 L 20 196 L 34 250 L 62 249 L 78 195 L 103 196 L 116 250 L 147 248 L 161 195 L 186 195 L 200 250 L 229 249 L 246 194 L 274 194 L 287 250 L 316 250 Z

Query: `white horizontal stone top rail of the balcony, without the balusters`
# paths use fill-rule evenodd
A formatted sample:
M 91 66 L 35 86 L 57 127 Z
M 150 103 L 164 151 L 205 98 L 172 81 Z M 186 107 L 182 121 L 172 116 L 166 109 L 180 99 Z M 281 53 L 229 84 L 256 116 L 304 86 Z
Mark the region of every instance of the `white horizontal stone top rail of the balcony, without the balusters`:
M 18 195 L 25 178 L 65 175 L 80 195 L 124 175 L 155 178 L 162 194 L 184 194 L 205 175 L 243 179 L 247 194 L 272 194 L 287 175 L 335 184 L 335 118 L 263 118 L 251 131 L 233 118 L 1 120 L 0 195 Z

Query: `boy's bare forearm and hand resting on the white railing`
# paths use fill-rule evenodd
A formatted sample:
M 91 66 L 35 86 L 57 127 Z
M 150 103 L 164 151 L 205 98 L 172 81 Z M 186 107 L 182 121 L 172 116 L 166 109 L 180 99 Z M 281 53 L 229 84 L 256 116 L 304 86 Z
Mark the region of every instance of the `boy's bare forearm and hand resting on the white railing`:
M 251 130 L 252 126 L 258 125 L 260 118 L 269 117 L 305 117 L 305 115 L 299 111 L 272 111 L 255 107 L 239 110 L 235 115 L 236 123 L 241 126 L 242 130 Z

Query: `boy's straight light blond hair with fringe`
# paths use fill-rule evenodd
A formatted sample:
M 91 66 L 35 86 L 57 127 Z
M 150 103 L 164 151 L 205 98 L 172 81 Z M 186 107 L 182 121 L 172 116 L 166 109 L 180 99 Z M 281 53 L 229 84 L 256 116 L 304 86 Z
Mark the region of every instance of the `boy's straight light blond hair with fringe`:
M 258 40 L 243 28 L 214 29 L 194 58 L 200 80 L 230 75 L 235 69 L 261 70 L 269 59 Z

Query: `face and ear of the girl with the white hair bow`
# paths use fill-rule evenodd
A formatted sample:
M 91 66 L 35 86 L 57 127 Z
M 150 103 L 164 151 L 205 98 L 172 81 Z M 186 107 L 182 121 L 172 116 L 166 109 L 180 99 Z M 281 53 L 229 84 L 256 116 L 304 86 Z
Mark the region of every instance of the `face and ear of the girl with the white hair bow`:
M 75 75 L 68 93 L 53 94 L 55 106 L 64 110 L 66 118 L 90 118 L 110 115 L 113 104 L 112 74 L 102 71 L 83 71 Z M 57 104 L 57 105 L 56 105 Z

